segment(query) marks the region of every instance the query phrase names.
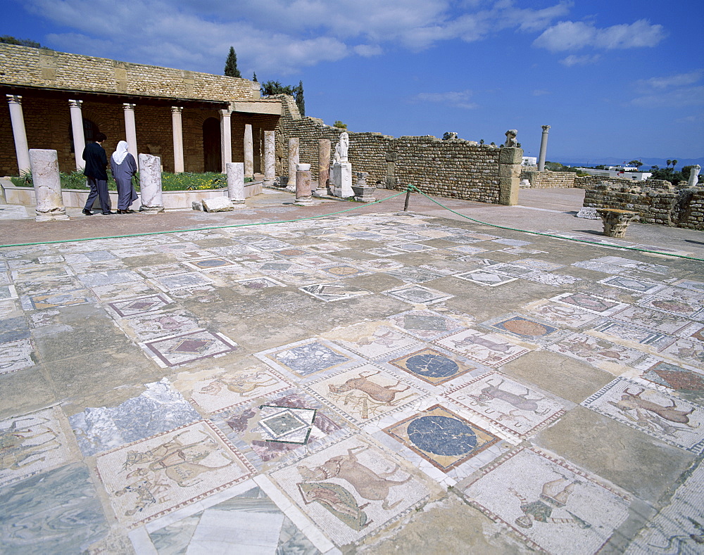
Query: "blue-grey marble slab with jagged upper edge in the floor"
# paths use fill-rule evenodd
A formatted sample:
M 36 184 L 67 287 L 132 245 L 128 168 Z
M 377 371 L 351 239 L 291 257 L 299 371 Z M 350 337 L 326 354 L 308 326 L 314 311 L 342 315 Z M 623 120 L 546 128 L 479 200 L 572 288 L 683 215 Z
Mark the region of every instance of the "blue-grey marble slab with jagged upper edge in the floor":
M 201 416 L 166 378 L 116 407 L 89 407 L 68 421 L 85 457 L 179 428 Z

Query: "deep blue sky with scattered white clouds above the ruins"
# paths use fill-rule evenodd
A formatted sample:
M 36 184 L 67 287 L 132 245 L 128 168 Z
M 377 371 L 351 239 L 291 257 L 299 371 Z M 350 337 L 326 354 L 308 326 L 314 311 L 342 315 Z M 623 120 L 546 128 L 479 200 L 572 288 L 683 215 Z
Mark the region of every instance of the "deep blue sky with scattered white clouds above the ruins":
M 458 132 L 548 160 L 704 157 L 701 0 L 1 0 L 52 49 L 303 81 L 351 131 Z M 598 162 L 596 162 L 598 163 Z

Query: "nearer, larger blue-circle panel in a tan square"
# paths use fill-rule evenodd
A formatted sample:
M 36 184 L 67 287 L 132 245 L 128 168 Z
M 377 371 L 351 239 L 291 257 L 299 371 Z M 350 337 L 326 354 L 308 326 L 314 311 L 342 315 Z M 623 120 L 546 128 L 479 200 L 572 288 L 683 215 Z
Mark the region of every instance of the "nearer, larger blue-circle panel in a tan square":
M 439 404 L 384 428 L 384 432 L 443 472 L 501 441 Z

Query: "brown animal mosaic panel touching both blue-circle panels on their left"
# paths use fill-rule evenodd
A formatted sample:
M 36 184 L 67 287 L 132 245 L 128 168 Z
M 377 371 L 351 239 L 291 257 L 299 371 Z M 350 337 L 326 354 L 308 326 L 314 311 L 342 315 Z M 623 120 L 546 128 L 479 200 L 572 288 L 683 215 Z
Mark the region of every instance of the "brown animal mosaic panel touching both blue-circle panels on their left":
M 322 402 L 358 423 L 379 419 L 425 397 L 414 385 L 373 364 L 323 376 L 305 387 Z

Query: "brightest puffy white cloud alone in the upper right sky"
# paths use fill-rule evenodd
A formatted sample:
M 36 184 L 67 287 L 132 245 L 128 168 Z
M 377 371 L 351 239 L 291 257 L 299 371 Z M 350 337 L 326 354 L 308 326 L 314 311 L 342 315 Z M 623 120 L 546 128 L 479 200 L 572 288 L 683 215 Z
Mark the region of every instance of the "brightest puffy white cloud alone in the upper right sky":
M 586 46 L 612 50 L 656 46 L 664 38 L 662 25 L 650 25 L 644 19 L 604 29 L 584 21 L 561 21 L 546 29 L 533 45 L 551 52 L 579 50 Z

